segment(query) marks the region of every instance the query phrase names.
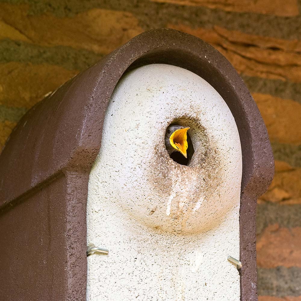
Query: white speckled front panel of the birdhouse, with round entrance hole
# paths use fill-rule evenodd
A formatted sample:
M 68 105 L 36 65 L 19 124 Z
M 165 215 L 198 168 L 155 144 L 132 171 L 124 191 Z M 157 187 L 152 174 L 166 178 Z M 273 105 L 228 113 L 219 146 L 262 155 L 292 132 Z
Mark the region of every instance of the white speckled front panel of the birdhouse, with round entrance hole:
M 164 145 L 166 127 L 188 131 L 188 166 Z M 87 300 L 236 300 L 242 162 L 222 97 L 188 70 L 164 64 L 123 76 L 110 99 L 91 170 Z

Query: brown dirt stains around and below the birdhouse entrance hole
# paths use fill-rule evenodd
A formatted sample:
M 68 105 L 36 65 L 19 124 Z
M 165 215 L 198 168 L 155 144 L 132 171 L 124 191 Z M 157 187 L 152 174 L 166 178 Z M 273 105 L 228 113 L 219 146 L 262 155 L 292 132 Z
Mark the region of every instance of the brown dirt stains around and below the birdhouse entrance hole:
M 173 161 L 166 151 L 164 135 L 170 123 L 191 128 L 189 131 L 195 152 L 188 166 Z M 223 158 L 217 141 L 208 135 L 201 121 L 196 118 L 182 116 L 166 123 L 159 131 L 162 139 L 154 147 L 148 181 L 153 186 L 154 193 L 160 195 L 162 202 L 166 202 L 161 209 L 169 206 L 166 215 L 174 221 L 174 233 L 181 234 L 185 232 L 185 228 L 191 228 L 189 220 L 199 206 L 197 202 L 200 198 L 206 202 L 216 194 L 225 177 Z M 159 214 L 158 210 L 150 213 L 154 218 L 156 214 Z M 209 214 L 213 217 L 215 215 L 214 212 Z M 164 228 L 160 222 L 162 221 L 158 221 L 158 226 Z

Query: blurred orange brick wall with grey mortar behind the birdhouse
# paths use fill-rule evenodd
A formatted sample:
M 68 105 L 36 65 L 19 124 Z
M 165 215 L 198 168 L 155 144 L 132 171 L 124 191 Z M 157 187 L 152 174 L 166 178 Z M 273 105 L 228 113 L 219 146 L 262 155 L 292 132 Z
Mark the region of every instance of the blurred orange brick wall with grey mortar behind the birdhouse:
M 0 0 L 0 149 L 46 94 L 151 28 L 191 33 L 243 77 L 276 160 L 258 200 L 260 301 L 301 300 L 301 0 Z

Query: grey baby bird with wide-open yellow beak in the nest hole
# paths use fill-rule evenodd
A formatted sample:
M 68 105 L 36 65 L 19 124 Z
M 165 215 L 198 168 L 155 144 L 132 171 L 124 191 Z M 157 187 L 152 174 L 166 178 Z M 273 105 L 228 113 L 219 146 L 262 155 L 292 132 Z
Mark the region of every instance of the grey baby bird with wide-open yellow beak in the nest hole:
M 167 127 L 165 133 L 165 147 L 169 155 L 178 151 L 187 158 L 187 131 L 189 129 L 190 127 L 179 126 L 176 124 L 171 124 Z

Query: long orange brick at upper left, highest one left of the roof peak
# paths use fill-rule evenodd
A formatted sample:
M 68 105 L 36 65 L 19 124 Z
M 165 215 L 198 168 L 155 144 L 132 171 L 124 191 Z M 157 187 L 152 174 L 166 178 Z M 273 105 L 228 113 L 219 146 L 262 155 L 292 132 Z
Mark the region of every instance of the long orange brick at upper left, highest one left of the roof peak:
M 143 32 L 131 13 L 93 8 L 74 17 L 29 15 L 28 5 L 0 4 L 0 18 L 31 42 L 109 53 Z

